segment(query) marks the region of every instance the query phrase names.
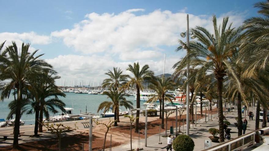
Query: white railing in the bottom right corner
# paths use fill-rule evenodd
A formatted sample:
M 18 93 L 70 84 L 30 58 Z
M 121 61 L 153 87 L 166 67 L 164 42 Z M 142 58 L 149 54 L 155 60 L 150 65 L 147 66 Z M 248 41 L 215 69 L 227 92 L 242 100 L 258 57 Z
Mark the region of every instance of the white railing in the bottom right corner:
M 249 134 L 246 134 L 246 135 L 242 135 L 241 137 L 236 138 L 234 140 L 223 142 L 224 144 L 222 144 L 220 146 L 216 146 L 216 147 L 212 146 L 214 148 L 210 147 L 212 149 L 210 149 L 210 148 L 203 149 L 203 151 L 216 151 L 216 150 L 223 150 L 223 149 L 225 149 L 227 151 L 231 151 L 231 150 L 233 151 L 233 150 L 238 150 L 238 149 L 244 150 L 244 149 L 252 147 L 253 145 L 256 144 L 256 142 L 255 142 L 255 134 L 256 134 L 256 132 L 252 132 L 252 133 L 249 133 Z M 249 141 L 248 143 L 245 143 L 245 138 L 250 138 L 251 141 Z M 237 148 L 234 148 L 233 146 L 231 148 L 231 144 L 234 144 L 236 142 L 238 142 L 238 144 L 241 144 L 241 146 L 240 145 L 238 146 L 238 144 L 236 144 Z

